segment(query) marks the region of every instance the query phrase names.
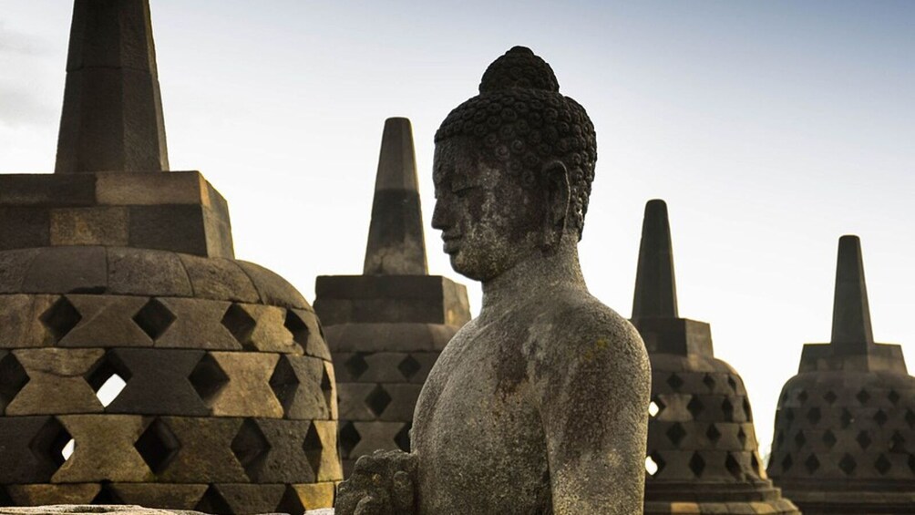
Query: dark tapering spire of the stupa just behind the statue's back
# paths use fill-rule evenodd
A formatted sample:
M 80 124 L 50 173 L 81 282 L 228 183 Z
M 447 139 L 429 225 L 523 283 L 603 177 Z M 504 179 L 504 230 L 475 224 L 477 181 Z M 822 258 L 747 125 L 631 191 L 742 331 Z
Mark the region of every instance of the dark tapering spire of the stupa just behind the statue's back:
M 660 199 L 649 200 L 641 226 L 632 318 L 677 317 L 677 285 L 667 204 Z

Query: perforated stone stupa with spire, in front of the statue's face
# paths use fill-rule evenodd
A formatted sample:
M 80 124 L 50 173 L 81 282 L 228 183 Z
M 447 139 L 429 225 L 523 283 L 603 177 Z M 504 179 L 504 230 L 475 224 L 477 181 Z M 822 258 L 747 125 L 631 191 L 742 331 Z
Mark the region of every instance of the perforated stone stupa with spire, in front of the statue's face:
M 425 378 L 470 319 L 467 289 L 428 272 L 406 118 L 384 123 L 363 274 L 319 276 L 315 289 L 337 370 L 339 446 L 349 475 L 359 456 L 410 450 Z

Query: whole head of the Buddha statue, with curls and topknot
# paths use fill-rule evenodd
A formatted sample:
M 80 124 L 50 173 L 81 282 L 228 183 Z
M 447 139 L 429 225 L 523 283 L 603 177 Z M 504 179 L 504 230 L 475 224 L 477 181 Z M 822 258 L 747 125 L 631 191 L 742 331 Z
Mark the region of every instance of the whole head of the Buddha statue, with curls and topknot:
M 559 93 L 544 59 L 511 48 L 436 133 L 432 223 L 452 266 L 487 281 L 534 252 L 574 245 L 596 162 L 585 108 Z

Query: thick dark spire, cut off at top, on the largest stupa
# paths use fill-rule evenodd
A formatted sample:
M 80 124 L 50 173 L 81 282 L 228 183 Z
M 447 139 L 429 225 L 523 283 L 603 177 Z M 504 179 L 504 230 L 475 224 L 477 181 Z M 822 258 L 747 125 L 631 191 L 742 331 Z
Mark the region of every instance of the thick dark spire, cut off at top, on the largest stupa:
M 149 0 L 76 0 L 55 172 L 167 170 Z

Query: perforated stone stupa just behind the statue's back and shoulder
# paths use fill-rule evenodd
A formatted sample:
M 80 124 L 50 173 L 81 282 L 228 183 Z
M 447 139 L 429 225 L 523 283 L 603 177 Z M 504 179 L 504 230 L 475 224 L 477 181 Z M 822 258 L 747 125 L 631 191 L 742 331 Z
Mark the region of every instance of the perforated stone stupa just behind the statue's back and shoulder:
M 662 200 L 645 207 L 631 321 L 651 358 L 646 515 L 799 513 L 766 478 L 747 391 L 709 325 L 679 317 Z

